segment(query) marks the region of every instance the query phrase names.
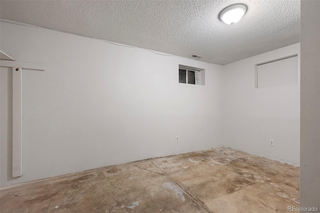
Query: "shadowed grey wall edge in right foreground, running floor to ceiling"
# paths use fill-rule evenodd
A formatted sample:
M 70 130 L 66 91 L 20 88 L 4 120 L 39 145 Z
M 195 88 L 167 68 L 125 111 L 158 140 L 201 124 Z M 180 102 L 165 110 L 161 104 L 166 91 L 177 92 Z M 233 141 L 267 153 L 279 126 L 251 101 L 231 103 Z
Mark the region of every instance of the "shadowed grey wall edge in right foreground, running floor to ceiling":
M 320 1 L 301 0 L 300 206 L 320 209 Z

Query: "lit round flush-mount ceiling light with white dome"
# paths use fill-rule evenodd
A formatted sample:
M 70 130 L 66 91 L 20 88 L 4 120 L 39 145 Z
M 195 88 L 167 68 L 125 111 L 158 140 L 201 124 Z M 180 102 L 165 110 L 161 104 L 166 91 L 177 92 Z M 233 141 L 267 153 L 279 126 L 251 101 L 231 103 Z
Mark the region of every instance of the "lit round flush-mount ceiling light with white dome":
M 247 6 L 243 3 L 232 4 L 219 13 L 219 19 L 224 23 L 233 25 L 238 22 L 246 12 Z

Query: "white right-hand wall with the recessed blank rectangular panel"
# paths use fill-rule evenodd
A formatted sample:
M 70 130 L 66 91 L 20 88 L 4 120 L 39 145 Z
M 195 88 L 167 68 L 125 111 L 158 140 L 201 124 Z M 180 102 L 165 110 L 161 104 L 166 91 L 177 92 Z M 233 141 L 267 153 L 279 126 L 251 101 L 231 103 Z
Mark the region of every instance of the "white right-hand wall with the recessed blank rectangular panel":
M 254 88 L 255 64 L 293 54 L 298 54 L 299 77 L 299 47 L 296 43 L 224 66 L 225 146 L 299 165 L 299 85 Z

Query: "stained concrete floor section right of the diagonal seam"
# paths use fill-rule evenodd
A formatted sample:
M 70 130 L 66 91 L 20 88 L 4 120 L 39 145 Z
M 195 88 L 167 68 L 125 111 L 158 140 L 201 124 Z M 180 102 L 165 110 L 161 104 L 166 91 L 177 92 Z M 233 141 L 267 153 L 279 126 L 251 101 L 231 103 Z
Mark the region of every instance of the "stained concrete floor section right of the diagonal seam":
M 299 168 L 230 148 L 151 159 L 209 212 L 299 207 Z

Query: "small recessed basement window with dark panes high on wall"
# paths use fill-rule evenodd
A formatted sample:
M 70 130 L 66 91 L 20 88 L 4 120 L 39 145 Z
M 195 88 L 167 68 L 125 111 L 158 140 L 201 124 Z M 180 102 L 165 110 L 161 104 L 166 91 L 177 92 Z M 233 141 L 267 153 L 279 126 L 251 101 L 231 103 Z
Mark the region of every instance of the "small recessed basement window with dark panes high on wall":
M 179 83 L 204 85 L 204 69 L 179 65 Z

